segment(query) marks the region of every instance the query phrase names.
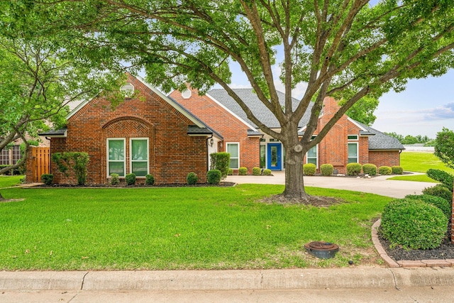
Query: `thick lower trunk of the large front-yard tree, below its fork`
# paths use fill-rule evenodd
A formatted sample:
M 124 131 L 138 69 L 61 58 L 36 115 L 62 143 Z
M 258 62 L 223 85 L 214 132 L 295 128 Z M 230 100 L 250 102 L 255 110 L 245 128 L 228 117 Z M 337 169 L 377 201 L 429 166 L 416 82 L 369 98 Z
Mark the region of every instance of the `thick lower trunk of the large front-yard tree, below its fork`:
M 309 194 L 304 189 L 303 147 L 300 143 L 284 144 L 285 148 L 285 189 L 282 195 L 287 199 L 307 202 Z

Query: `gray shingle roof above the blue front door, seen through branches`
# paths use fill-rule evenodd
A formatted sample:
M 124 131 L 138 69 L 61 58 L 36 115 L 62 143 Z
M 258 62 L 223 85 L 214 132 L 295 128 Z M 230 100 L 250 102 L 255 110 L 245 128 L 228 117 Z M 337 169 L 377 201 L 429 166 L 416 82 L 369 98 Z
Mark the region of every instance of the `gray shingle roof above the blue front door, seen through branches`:
M 262 121 L 262 123 L 264 123 L 269 128 L 281 127 L 275 115 L 272 114 L 269 109 L 267 109 L 265 104 L 262 104 L 262 101 L 258 99 L 257 94 L 253 92 L 253 89 L 233 89 L 233 91 L 238 94 L 238 97 L 240 97 L 245 102 L 245 104 L 248 104 L 250 110 L 257 117 L 257 119 Z M 248 119 L 243 109 L 241 109 L 238 103 L 236 103 L 236 101 L 232 97 L 230 97 L 225 89 L 211 89 L 211 91 L 209 91 L 207 94 L 216 99 L 216 101 L 221 103 L 223 106 L 226 106 L 227 109 L 230 109 L 234 114 L 236 114 L 236 116 L 239 116 L 251 126 L 257 127 L 257 125 L 253 123 L 253 121 L 250 121 Z M 282 104 L 283 106 L 285 104 L 284 93 L 277 92 L 277 96 L 279 97 L 280 104 Z M 292 103 L 293 109 L 296 109 L 299 104 L 299 100 L 292 98 Z M 309 109 L 306 111 L 306 114 L 304 114 L 303 119 L 301 119 L 301 121 L 299 122 L 299 127 L 305 126 L 309 121 L 311 107 L 312 102 L 311 104 L 309 104 Z

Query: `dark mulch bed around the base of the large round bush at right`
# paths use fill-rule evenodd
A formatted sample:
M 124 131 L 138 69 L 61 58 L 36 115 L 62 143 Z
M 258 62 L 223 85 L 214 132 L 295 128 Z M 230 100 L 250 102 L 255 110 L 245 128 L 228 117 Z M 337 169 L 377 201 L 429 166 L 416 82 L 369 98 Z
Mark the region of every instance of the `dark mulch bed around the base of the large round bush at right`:
M 441 246 L 434 249 L 410 249 L 406 250 L 402 247 L 389 248 L 390 243 L 380 236 L 378 238 L 384 250 L 386 250 L 389 258 L 395 261 L 400 260 L 443 260 L 454 259 L 454 245 L 450 243 L 451 238 L 451 224 L 448 225 L 448 231 L 443 239 Z

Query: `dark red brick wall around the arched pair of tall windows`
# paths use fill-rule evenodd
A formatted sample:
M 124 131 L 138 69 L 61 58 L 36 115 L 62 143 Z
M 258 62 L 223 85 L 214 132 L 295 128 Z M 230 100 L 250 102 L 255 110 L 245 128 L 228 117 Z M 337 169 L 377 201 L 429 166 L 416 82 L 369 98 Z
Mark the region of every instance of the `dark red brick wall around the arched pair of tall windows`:
M 52 138 L 51 153 L 89 153 L 87 183 L 105 184 L 107 138 L 126 139 L 126 173 L 130 172 L 129 139 L 148 138 L 149 170 L 155 184 L 186 183 L 189 172 L 195 172 L 199 182 L 206 182 L 206 137 L 188 136 L 187 128 L 194 124 L 192 121 L 138 79 L 130 77 L 128 82 L 139 91 L 135 99 L 126 99 L 115 110 L 105 99 L 90 101 L 69 119 L 67 138 Z M 67 178 L 58 172 L 53 162 L 51 170 L 55 182 L 77 182 L 73 175 Z M 143 179 L 138 177 L 140 181 Z

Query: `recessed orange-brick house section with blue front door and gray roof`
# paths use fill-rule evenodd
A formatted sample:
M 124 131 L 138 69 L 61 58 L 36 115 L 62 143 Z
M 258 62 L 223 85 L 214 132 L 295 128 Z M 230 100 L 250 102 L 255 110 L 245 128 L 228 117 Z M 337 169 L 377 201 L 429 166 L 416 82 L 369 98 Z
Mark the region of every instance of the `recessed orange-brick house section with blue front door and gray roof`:
M 234 89 L 234 91 L 245 101 L 245 104 L 248 104 L 260 121 L 269 128 L 280 131 L 279 122 L 252 89 Z M 284 94 L 278 92 L 278 96 L 284 104 Z M 189 88 L 182 93 L 172 92 L 170 97 L 199 116 L 223 137 L 224 141 L 218 143 L 218 150 L 231 153 L 233 170 L 239 167 L 247 167 L 249 172 L 253 167 L 270 170 L 284 169 L 282 143 L 263 133 L 255 123 L 250 121 L 226 90 L 212 89 L 206 96 L 199 96 L 196 89 Z M 298 100 L 292 101 L 295 108 Z M 310 107 L 299 123 L 301 135 L 309 121 Z M 338 104 L 335 99 L 327 97 L 324 100 L 323 113 L 319 118 L 314 136 L 331 119 L 337 109 Z M 377 167 L 399 165 L 402 150 L 404 146 L 397 139 L 344 115 L 321 143 L 306 153 L 304 163 L 311 162 L 317 167 L 330 163 L 339 173 L 345 173 L 345 167 L 349 162 L 373 163 Z

